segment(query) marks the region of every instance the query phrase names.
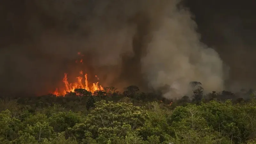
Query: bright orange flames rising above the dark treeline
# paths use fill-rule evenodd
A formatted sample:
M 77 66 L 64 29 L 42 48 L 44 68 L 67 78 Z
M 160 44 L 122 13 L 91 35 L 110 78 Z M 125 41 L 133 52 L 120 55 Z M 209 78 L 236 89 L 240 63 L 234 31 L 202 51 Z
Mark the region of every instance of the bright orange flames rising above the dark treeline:
M 78 55 L 81 55 L 81 52 L 77 53 Z M 84 55 L 81 55 L 84 56 Z M 79 60 L 80 63 L 83 64 L 83 59 Z M 78 60 L 76 60 L 76 63 L 78 62 Z M 81 70 L 79 72 L 80 75 L 83 75 L 83 71 Z M 84 77 L 84 81 L 83 81 L 83 77 Z M 58 88 L 56 88 L 56 90 L 53 92 L 53 94 L 59 96 L 59 95 L 65 95 L 67 92 L 75 92 L 75 89 L 85 89 L 87 91 L 90 92 L 95 92 L 97 90 L 103 90 L 103 87 L 101 85 L 99 85 L 99 82 L 93 83 L 91 86 L 88 83 L 87 80 L 87 74 L 85 73 L 84 76 L 78 76 L 77 78 L 77 82 L 76 83 L 69 83 L 68 82 L 68 74 L 65 73 L 64 74 L 64 78 L 63 78 L 63 83 L 65 85 L 65 90 L 63 92 L 59 92 Z M 97 76 L 95 76 L 98 80 L 99 78 Z

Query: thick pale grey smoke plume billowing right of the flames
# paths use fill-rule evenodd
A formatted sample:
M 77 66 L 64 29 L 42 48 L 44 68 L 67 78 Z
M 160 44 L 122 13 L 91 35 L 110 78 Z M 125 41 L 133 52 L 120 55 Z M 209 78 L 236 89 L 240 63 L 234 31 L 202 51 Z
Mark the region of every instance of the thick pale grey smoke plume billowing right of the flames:
M 187 94 L 191 81 L 201 82 L 206 92 L 223 90 L 222 60 L 217 52 L 200 42 L 190 12 L 167 6 L 158 23 L 147 55 L 141 60 L 149 83 L 154 88 L 170 85 L 172 90 L 166 97 Z

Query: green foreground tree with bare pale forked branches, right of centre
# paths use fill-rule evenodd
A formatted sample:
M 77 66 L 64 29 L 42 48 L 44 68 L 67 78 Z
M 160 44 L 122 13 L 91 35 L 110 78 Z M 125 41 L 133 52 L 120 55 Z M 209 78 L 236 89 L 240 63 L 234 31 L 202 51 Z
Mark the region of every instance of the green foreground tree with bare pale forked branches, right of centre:
M 181 112 L 176 112 L 180 110 Z M 173 114 L 178 118 L 172 122 L 172 130 L 175 133 L 175 138 L 172 139 L 174 143 L 221 142 L 217 132 L 209 127 L 202 117 L 201 106 L 189 104 L 184 109 L 175 108 Z

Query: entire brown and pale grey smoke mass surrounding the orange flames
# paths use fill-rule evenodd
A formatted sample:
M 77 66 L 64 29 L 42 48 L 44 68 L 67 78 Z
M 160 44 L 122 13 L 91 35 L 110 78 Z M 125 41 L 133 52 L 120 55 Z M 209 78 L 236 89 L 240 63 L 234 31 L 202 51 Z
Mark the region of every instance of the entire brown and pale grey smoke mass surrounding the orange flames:
M 205 91 L 224 89 L 219 54 L 200 42 L 193 15 L 179 0 L 1 3 L 4 89 L 48 92 L 64 72 L 80 67 L 103 86 L 167 84 L 175 89 L 168 98 L 186 94 L 190 81 Z M 85 54 L 85 66 L 74 66 L 77 52 Z

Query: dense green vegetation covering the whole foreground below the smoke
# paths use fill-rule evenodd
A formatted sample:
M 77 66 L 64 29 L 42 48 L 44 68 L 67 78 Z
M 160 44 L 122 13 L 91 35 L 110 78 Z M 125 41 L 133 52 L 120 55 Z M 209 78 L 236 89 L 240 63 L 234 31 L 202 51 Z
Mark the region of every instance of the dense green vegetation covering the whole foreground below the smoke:
M 107 87 L 93 94 L 77 89 L 64 97 L 2 97 L 0 143 L 256 143 L 252 92 L 243 93 L 250 96 L 246 102 L 231 92 L 204 95 L 201 89 L 179 100 L 159 95 L 130 86 L 123 93 Z

